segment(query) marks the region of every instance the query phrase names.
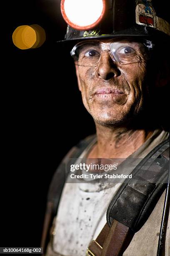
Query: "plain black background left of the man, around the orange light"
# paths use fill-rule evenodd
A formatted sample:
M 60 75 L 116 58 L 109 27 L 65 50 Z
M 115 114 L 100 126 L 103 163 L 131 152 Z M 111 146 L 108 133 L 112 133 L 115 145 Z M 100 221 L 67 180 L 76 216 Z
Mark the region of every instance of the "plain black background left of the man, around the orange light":
M 40 246 L 52 174 L 95 126 L 82 105 L 70 48 L 56 43 L 66 33 L 60 0 L 8 1 L 1 11 L 7 47 L 1 49 L 0 246 Z M 32 24 L 45 29 L 45 43 L 38 49 L 18 49 L 13 31 Z

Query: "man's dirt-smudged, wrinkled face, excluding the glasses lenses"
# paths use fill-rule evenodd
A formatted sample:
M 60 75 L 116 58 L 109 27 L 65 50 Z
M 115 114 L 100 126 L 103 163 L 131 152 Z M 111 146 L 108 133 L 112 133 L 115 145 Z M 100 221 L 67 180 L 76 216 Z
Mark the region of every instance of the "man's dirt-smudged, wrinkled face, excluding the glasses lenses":
M 143 108 L 143 99 L 147 92 L 145 84 L 147 60 L 138 42 L 128 40 L 123 42 L 125 46 L 138 52 L 139 62 L 119 64 L 112 60 L 109 51 L 103 50 L 95 67 L 75 66 L 83 104 L 95 122 L 102 125 L 120 125 L 138 115 Z M 129 49 L 119 50 L 120 55 L 122 51 L 130 54 Z M 91 56 L 98 51 L 93 50 L 96 53 L 90 52 Z M 89 52 L 86 51 L 85 54 L 90 57 Z

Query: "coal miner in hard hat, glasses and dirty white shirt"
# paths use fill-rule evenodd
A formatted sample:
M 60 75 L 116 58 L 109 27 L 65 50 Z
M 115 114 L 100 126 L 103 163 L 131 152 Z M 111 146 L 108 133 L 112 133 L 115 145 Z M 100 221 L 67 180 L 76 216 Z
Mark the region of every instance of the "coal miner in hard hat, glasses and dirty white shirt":
M 64 41 L 96 134 L 52 179 L 47 256 L 170 255 L 166 3 L 62 0 Z M 77 116 L 78 118 L 78 116 Z M 86 124 L 88 125 L 88 124 Z

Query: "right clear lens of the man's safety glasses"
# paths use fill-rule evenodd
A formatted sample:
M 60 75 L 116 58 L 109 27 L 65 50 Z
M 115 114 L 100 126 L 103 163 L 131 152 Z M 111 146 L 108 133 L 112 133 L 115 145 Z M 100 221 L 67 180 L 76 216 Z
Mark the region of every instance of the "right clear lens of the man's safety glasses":
M 120 64 L 143 62 L 148 59 L 148 50 L 139 42 L 113 42 L 110 44 L 113 58 Z

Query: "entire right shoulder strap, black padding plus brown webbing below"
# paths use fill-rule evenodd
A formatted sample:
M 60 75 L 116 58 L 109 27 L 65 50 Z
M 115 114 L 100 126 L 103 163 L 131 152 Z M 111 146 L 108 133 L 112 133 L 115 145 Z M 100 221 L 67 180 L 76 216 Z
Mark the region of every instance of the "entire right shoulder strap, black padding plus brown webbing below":
M 142 178 L 143 184 L 137 182 L 122 184 L 108 207 L 107 223 L 96 240 L 91 241 L 87 248 L 87 255 L 122 255 L 165 190 L 168 160 L 169 142 L 167 140 L 154 148 L 134 169 L 133 174 Z M 144 165 L 146 172 L 143 172 Z M 150 171 L 152 175 L 148 176 Z

